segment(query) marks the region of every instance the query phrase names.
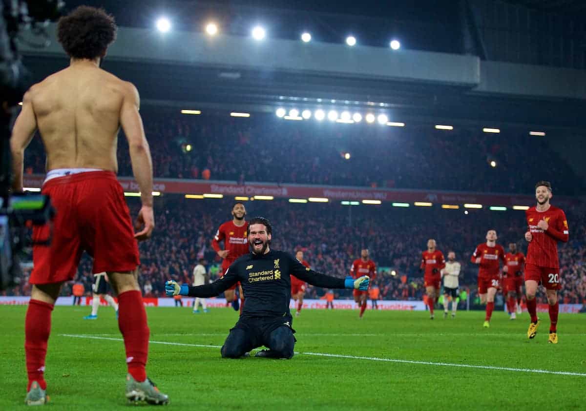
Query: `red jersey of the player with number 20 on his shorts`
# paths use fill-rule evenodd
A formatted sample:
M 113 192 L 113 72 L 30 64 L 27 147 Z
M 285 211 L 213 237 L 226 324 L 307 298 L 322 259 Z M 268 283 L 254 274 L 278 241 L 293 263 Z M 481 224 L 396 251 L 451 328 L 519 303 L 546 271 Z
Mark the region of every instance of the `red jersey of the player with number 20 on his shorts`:
M 534 264 L 540 267 L 560 268 L 557 259 L 557 242 L 568 242 L 570 232 L 568 231 L 568 220 L 565 218 L 561 208 L 550 205 L 546 211 L 537 211 L 531 207 L 525 211 L 527 225 L 533 239 L 527 246 L 527 264 Z M 537 227 L 539 220 L 547 221 L 547 231 Z

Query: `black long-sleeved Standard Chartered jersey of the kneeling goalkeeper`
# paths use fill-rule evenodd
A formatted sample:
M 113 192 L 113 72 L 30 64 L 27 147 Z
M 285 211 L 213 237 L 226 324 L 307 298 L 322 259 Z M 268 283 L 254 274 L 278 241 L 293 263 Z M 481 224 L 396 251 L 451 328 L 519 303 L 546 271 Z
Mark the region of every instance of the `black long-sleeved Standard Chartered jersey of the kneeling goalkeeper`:
M 263 255 L 241 256 L 223 278 L 189 287 L 189 296 L 214 297 L 240 281 L 246 298 L 243 317 L 284 316 L 289 314 L 291 275 L 317 287 L 344 288 L 343 278 L 315 272 L 284 251 L 271 250 Z

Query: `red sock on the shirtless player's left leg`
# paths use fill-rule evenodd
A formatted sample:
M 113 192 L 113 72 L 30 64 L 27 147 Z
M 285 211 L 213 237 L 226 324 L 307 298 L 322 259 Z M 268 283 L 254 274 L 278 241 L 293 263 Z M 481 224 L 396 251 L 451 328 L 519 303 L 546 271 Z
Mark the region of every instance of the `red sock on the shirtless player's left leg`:
M 30 389 L 33 381 L 39 383 L 40 388 L 47 389 L 45 381 L 45 357 L 47 355 L 47 341 L 51 333 L 51 311 L 53 304 L 31 299 L 26 310 L 25 318 L 25 353 L 26 372 Z

